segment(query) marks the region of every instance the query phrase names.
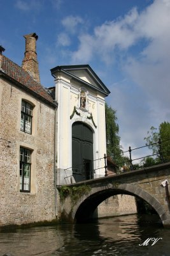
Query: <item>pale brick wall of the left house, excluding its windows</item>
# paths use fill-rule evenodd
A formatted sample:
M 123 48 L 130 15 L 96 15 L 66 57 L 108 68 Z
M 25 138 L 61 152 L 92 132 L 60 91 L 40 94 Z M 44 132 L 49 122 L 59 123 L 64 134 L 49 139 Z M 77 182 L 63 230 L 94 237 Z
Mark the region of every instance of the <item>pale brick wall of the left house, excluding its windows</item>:
M 55 110 L 0 77 L 0 226 L 55 219 Z M 34 106 L 32 134 L 20 131 L 21 101 Z M 20 147 L 31 150 L 31 192 L 20 192 Z

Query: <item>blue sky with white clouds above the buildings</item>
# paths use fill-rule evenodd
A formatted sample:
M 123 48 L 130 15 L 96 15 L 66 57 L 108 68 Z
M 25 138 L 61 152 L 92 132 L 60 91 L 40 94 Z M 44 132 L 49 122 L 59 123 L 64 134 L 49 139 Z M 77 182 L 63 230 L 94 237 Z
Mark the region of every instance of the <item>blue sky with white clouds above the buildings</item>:
M 170 122 L 170 0 L 0 0 L 0 45 L 18 65 L 36 33 L 41 84 L 50 69 L 89 64 L 110 90 L 123 150 Z M 133 151 L 132 159 L 145 152 Z

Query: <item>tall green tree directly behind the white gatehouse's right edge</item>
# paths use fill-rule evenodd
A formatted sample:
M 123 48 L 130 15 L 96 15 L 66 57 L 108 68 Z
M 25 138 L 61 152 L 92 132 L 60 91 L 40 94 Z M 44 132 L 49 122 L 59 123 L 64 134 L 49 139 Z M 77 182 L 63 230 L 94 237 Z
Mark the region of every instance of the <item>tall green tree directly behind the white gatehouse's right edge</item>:
M 117 124 L 116 111 L 105 105 L 105 116 L 106 116 L 106 145 L 107 145 L 107 156 L 111 156 L 116 164 L 124 161 L 122 156 L 122 146 L 120 145 L 120 136 L 118 135 L 119 127 Z

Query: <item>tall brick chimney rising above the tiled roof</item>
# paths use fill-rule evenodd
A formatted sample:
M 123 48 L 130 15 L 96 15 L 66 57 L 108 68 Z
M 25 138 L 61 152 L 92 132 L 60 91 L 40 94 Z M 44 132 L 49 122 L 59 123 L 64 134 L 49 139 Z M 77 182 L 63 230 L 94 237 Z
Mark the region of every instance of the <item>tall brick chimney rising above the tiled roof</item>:
M 36 40 L 38 40 L 38 35 L 36 33 L 31 33 L 25 35 L 25 56 L 22 61 L 22 68 L 29 72 L 29 74 L 34 78 L 34 80 L 40 83 L 39 78 L 39 68 L 38 60 L 36 54 Z

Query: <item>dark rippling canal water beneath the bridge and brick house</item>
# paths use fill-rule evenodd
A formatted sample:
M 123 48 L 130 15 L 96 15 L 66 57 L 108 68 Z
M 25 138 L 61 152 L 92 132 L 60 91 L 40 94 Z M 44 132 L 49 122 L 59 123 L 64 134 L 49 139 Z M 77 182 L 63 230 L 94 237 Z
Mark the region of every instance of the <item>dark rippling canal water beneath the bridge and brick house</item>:
M 157 243 L 148 238 L 156 238 Z M 159 239 L 160 238 L 160 239 Z M 158 240 L 159 239 L 159 240 Z M 170 229 L 157 216 L 138 214 L 84 224 L 18 228 L 0 232 L 0 256 L 169 256 Z

